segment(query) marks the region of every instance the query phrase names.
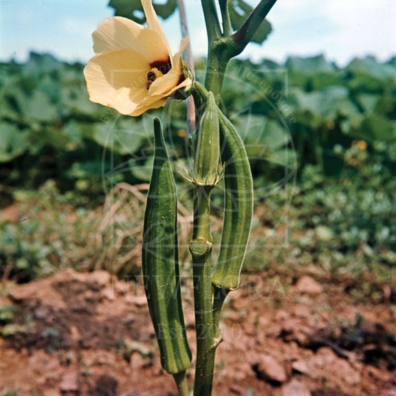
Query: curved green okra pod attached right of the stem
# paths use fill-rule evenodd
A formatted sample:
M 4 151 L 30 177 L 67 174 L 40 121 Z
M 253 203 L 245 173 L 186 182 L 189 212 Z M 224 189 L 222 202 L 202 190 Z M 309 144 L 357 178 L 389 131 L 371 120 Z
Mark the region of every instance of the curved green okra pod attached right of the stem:
M 212 285 L 233 290 L 239 287 L 252 226 L 253 179 L 241 137 L 230 120 L 220 110 L 218 113 L 225 202 L 220 252 L 212 271 Z

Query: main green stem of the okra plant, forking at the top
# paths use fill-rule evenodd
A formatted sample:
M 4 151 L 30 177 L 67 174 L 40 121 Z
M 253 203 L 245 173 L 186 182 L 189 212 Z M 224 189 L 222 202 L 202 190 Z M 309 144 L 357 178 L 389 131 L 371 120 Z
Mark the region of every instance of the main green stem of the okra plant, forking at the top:
M 231 35 L 231 25 L 227 1 L 220 0 L 224 35 L 221 29 L 214 0 L 201 0 L 208 32 L 208 61 L 206 65 L 205 87 L 212 91 L 219 103 L 225 70 L 231 58 L 241 54 L 251 41 L 254 33 L 271 10 L 276 0 L 261 0 L 239 30 Z M 192 91 L 197 103 L 207 96 L 201 85 Z M 205 149 L 205 148 L 203 148 Z M 221 342 L 219 320 L 227 292 L 214 288 L 212 299 L 210 253 L 210 190 L 195 188 L 194 232 L 190 242 L 194 276 L 195 325 L 197 331 L 197 364 L 195 368 L 195 396 L 210 396 L 214 370 L 214 354 Z

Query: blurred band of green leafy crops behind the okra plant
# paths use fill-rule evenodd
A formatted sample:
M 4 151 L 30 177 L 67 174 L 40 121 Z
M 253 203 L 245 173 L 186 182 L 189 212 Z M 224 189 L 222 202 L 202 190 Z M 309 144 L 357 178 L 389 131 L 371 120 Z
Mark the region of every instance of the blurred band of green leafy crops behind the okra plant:
M 292 260 L 391 285 L 396 58 L 356 58 L 342 69 L 322 56 L 283 65 L 232 61 L 223 106 L 248 148 L 259 192 L 246 269 Z M 120 116 L 89 102 L 83 65 L 35 53 L 24 64 L 1 63 L 1 208 L 17 203 L 29 219 L 1 221 L 0 276 L 29 281 L 94 257 L 87 240 L 111 187 L 149 180 L 153 115 L 166 126 L 175 169 L 188 167 L 185 111 L 185 102 L 173 101 L 139 118 Z M 189 208 L 188 186 L 182 177 L 177 183 Z M 280 221 L 285 232 L 277 231 Z

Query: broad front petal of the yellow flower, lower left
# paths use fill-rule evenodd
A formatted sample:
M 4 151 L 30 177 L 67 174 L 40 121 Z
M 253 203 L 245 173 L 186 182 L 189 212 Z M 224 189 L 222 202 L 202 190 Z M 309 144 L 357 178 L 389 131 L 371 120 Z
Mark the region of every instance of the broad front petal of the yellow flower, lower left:
M 133 50 L 102 52 L 84 69 L 89 99 L 129 114 L 148 96 L 149 70 L 146 59 Z

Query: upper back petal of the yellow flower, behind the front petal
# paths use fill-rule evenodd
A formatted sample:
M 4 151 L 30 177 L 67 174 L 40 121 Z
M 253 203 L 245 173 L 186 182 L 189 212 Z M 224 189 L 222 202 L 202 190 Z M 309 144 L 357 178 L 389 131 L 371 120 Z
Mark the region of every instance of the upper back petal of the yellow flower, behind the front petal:
M 168 43 L 158 32 L 123 17 L 110 17 L 98 23 L 92 41 L 96 54 L 131 48 L 142 54 L 148 63 L 170 57 Z

